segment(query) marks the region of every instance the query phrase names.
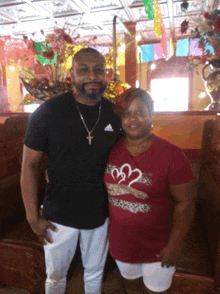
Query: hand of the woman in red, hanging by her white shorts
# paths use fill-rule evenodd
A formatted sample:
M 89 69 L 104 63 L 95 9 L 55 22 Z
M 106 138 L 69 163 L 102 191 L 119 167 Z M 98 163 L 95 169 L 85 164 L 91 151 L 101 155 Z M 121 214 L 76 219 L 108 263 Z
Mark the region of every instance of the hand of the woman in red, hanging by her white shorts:
M 167 245 L 165 246 L 158 256 L 163 257 L 162 259 L 162 267 L 170 267 L 175 266 L 178 258 L 181 255 L 182 246 L 179 245 Z

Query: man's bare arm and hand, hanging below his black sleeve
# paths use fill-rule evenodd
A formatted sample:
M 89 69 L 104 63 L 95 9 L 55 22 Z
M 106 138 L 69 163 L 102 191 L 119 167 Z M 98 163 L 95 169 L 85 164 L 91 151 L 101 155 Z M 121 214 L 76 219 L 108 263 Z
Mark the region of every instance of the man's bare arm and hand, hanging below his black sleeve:
M 26 210 L 27 220 L 42 244 L 45 240 L 52 243 L 48 229 L 56 231 L 56 227 L 40 216 L 38 208 L 38 180 L 40 162 L 43 152 L 33 150 L 24 145 L 21 168 L 21 192 Z

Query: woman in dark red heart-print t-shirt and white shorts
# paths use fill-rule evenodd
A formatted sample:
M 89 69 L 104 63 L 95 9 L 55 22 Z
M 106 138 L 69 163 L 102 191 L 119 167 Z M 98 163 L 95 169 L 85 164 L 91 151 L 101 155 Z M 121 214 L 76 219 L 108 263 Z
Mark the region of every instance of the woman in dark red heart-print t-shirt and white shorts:
M 153 101 L 145 91 L 126 90 L 115 112 L 125 137 L 113 147 L 105 172 L 110 254 L 125 293 L 169 293 L 193 215 L 190 162 L 179 147 L 151 133 Z

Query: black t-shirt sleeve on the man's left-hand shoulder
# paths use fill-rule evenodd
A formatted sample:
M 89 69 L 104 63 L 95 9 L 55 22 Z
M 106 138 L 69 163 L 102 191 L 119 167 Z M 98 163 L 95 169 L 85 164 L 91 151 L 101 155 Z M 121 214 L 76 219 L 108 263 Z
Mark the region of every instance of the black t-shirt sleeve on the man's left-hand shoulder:
M 44 151 L 47 142 L 46 111 L 42 104 L 28 120 L 24 144 L 36 151 Z

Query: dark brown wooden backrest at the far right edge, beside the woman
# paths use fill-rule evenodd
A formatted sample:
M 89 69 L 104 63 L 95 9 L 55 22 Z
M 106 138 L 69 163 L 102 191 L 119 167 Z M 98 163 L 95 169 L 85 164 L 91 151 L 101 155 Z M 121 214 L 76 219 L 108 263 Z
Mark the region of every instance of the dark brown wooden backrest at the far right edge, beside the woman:
M 215 288 L 220 291 L 220 118 L 218 117 L 204 124 L 198 195 L 210 259 L 215 265 Z

